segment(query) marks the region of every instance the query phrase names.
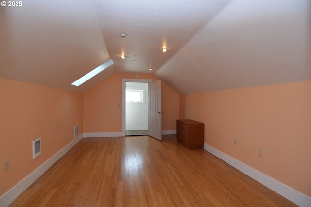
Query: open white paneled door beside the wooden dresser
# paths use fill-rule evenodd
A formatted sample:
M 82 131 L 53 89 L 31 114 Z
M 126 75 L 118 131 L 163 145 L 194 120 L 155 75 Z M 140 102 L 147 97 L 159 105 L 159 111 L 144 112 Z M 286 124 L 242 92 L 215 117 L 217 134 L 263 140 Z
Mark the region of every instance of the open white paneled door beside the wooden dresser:
M 148 135 L 162 140 L 161 80 L 148 83 Z

